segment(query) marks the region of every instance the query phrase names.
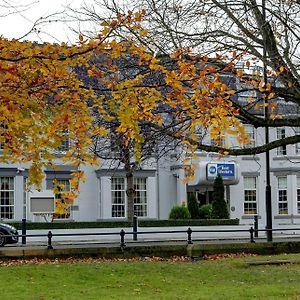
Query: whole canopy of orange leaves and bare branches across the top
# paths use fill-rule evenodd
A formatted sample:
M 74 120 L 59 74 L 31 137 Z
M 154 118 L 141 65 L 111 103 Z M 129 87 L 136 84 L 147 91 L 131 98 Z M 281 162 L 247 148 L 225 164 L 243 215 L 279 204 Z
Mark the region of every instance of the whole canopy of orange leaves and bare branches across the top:
M 151 7 L 158 3 L 159 7 Z M 298 106 L 298 25 L 291 19 L 298 4 L 282 4 L 286 27 L 278 28 L 281 35 L 286 31 L 286 44 L 280 44 L 274 26 L 283 17 L 273 12 L 273 6 L 267 6 L 266 14 L 255 1 L 241 1 L 236 7 L 221 3 L 193 2 L 195 16 L 205 18 L 205 32 L 200 32 L 201 26 L 189 32 L 179 26 L 188 17 L 188 7 L 192 13 L 192 6 L 185 7 L 191 4 L 145 0 L 145 9 L 118 10 L 115 17 L 102 20 L 92 38 L 79 35 L 76 45 L 0 38 L 1 161 L 30 162 L 29 182 L 39 188 L 42 168 L 55 167 L 57 149 L 65 138 L 72 143 L 60 158 L 74 166 L 98 164 L 95 139 L 111 137 L 129 149 L 136 162 L 145 155 L 145 145 L 153 146 L 158 136 L 180 142 L 189 152 L 202 149 L 236 155 L 300 142 L 296 135 L 259 147 L 227 149 L 199 140 L 201 128 L 215 140 L 231 134 L 241 144 L 248 143 L 243 122 L 255 127 L 300 126 L 297 114 L 282 118 L 277 104 L 280 97 Z M 162 12 L 166 19 L 151 19 Z M 241 24 L 238 20 L 243 16 Z M 219 29 L 212 27 L 210 18 L 220 19 L 214 23 Z M 161 24 L 156 23 L 159 20 Z M 155 24 L 165 31 L 156 32 Z M 222 26 L 229 35 L 221 35 Z M 256 60 L 265 63 L 272 80 L 264 81 L 259 72 L 245 72 Z M 243 70 L 238 68 L 240 62 L 245 63 Z M 249 89 L 259 97 L 249 97 L 242 105 L 237 96 Z M 270 113 L 264 119 L 259 114 L 266 106 Z M 82 172 L 74 172 L 70 201 L 82 178 Z

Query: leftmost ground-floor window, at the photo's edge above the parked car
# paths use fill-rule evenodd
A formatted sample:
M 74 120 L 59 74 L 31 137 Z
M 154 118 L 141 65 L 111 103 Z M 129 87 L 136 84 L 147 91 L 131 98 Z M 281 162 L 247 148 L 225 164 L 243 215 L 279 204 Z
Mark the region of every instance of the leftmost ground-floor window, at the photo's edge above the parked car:
M 0 218 L 14 218 L 14 177 L 0 177 Z

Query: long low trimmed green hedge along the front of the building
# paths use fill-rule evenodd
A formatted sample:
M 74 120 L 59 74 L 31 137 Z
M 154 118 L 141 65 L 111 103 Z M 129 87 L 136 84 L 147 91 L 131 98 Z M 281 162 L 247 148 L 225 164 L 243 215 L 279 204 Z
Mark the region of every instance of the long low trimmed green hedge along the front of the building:
M 18 230 L 21 230 L 21 222 L 10 222 Z M 228 220 L 202 220 L 202 219 L 190 219 L 190 220 L 139 220 L 140 227 L 168 227 L 168 226 L 217 226 L 217 225 L 239 225 L 239 219 Z M 98 221 L 98 222 L 53 222 L 53 223 L 41 223 L 41 222 L 27 222 L 27 229 L 76 229 L 76 228 L 125 228 L 132 227 L 130 221 Z

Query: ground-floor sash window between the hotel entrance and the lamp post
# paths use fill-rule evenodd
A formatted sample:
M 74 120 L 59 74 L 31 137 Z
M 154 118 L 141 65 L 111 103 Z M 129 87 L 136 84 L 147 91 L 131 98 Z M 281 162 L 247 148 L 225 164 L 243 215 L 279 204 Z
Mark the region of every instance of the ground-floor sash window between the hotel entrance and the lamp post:
M 257 214 L 256 177 L 244 177 L 244 214 Z

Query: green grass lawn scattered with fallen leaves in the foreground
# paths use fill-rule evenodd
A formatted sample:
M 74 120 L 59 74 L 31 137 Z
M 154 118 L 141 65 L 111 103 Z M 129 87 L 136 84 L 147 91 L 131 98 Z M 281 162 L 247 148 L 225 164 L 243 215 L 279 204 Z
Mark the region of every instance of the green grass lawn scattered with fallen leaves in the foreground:
M 0 299 L 300 299 L 300 254 L 190 261 L 0 264 Z

